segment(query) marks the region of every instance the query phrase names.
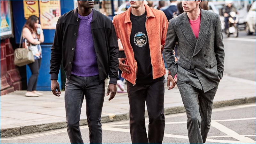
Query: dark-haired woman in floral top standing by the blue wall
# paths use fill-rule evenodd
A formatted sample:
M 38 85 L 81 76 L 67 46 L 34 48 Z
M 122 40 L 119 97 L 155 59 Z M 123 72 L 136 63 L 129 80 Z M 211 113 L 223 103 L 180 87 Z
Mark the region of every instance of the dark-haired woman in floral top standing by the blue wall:
M 44 33 L 39 24 L 38 17 L 32 15 L 28 18 L 22 28 L 22 37 L 22 47 L 31 50 L 35 59 L 35 62 L 28 64 L 32 75 L 28 79 L 28 89 L 25 96 L 38 97 L 39 95 L 43 95 L 43 93 L 36 91 L 36 84 L 42 60 L 42 48 L 40 44 L 44 42 Z

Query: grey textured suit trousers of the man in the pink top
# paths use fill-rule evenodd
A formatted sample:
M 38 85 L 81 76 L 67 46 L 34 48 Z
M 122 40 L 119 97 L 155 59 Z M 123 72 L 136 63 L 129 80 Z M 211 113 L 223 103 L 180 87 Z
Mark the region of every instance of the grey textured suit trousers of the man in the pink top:
M 177 86 L 188 117 L 189 143 L 205 143 L 211 125 L 212 103 L 218 86 L 208 92 L 180 80 L 177 81 Z

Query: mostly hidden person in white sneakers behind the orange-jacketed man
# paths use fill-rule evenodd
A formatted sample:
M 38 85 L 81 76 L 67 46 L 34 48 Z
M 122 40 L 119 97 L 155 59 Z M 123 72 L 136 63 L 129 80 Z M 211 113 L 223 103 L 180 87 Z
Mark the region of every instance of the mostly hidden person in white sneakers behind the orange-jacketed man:
M 118 52 L 118 58 L 125 58 L 125 53 L 124 53 L 124 48 L 123 45 L 121 44 L 120 39 L 118 39 L 118 47 L 119 47 L 119 52 Z M 125 90 L 124 87 L 124 78 L 122 77 L 122 70 L 118 69 L 118 81 L 116 83 L 116 92 L 117 93 L 126 93 L 127 91 Z

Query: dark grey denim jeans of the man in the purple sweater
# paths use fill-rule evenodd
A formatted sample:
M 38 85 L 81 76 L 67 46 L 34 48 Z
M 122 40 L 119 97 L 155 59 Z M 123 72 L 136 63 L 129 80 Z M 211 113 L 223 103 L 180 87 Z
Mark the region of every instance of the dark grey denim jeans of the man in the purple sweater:
M 84 96 L 90 143 L 102 143 L 100 117 L 104 95 L 105 82 L 100 82 L 99 75 L 89 77 L 71 75 L 70 80 L 66 80 L 65 107 L 71 143 L 84 143 L 79 129 Z

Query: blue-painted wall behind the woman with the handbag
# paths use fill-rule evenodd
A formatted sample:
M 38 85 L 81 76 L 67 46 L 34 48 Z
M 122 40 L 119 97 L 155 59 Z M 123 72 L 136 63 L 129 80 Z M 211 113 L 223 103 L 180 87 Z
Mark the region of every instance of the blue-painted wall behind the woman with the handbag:
M 11 1 L 12 2 L 12 12 L 13 12 L 13 27 L 15 31 L 15 42 L 20 43 L 20 35 L 23 25 L 26 20 L 24 18 L 23 1 Z M 60 1 L 61 15 L 74 9 L 74 1 Z M 39 13 L 40 17 L 40 13 Z M 40 19 L 39 19 L 40 20 Z M 40 21 L 39 21 L 40 23 Z M 43 29 L 44 30 L 44 43 L 41 44 L 42 47 L 42 61 L 41 67 L 39 69 L 39 75 L 37 80 L 36 90 L 38 91 L 51 91 L 51 80 L 50 80 L 50 59 L 51 59 L 51 46 L 54 38 L 55 29 Z M 28 66 L 26 66 L 27 72 L 27 82 L 28 78 L 31 76 L 31 71 Z M 58 75 L 58 82 L 61 88 L 61 77 L 60 73 Z

